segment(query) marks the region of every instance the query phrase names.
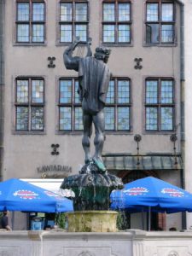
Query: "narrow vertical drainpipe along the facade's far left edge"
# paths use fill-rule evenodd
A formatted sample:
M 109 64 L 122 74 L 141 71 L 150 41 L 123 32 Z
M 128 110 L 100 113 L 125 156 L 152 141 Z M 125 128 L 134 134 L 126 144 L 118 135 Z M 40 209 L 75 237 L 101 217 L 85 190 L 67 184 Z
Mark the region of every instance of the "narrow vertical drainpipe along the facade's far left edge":
M 4 20 L 5 0 L 0 0 L 0 181 L 3 179 L 3 125 L 4 125 Z

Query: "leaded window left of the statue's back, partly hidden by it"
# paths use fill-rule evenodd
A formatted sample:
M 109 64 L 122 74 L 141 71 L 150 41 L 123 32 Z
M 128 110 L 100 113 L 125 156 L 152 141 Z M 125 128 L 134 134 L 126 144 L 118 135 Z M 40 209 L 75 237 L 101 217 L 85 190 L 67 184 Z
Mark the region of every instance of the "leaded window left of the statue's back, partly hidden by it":
M 83 130 L 82 108 L 79 101 L 79 81 L 77 79 L 59 80 L 59 130 Z

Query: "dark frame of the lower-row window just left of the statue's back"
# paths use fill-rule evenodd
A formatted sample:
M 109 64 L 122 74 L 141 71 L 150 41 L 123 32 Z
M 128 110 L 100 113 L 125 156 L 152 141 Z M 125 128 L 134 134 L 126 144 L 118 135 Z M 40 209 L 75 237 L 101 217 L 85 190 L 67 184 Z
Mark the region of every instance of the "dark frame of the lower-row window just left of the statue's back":
M 60 102 L 61 99 L 61 90 L 60 90 L 60 85 L 61 85 L 61 80 L 71 80 L 72 81 L 72 98 L 71 102 L 69 103 L 62 103 Z M 59 77 L 57 79 L 57 99 L 56 99 L 56 108 L 57 108 L 57 114 L 56 114 L 56 133 L 57 134 L 82 134 L 82 130 L 75 130 L 75 108 L 81 108 L 81 102 L 75 102 L 75 82 L 79 81 L 78 77 Z M 69 107 L 72 108 L 71 110 L 71 130 L 61 130 L 60 129 L 60 108 L 62 107 Z

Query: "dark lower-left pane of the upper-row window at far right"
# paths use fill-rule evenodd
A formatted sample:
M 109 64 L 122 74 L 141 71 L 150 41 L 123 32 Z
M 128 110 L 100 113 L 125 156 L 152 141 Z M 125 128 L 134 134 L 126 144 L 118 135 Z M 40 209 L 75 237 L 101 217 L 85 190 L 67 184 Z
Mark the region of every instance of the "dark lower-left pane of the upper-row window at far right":
M 148 44 L 156 44 L 160 42 L 159 36 L 159 24 L 147 24 L 146 25 L 146 41 Z

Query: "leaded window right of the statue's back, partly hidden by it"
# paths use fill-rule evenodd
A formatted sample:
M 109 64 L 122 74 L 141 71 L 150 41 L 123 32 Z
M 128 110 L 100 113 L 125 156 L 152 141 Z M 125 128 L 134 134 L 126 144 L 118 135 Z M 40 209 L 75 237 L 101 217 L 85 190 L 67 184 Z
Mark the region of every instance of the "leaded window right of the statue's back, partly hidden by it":
M 110 81 L 105 107 L 105 130 L 130 131 L 130 94 L 130 79 Z

